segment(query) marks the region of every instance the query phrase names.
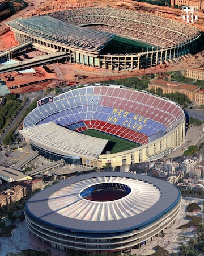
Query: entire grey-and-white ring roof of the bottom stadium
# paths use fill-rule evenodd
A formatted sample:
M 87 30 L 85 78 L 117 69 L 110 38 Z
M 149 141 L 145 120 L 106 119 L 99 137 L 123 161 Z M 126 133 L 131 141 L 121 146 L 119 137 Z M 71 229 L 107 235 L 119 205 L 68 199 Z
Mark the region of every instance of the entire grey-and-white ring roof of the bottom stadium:
M 82 191 L 100 183 L 123 184 L 130 193 L 113 201 L 90 201 Z M 141 229 L 167 214 L 181 199 L 179 189 L 149 176 L 94 172 L 46 188 L 27 201 L 26 214 L 46 225 L 86 233 Z

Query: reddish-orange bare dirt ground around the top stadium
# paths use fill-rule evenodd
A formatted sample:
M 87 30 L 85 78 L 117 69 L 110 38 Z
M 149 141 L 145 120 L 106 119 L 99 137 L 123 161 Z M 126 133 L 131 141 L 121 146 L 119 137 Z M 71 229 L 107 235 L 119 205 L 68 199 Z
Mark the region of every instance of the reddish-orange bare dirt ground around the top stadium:
M 77 5 L 80 2 L 84 2 L 84 1 L 61 0 L 60 2 L 54 2 L 54 6 L 55 6 L 54 8 L 57 8 L 57 6 L 60 8 L 61 6 L 64 6 L 64 5 L 66 6 L 69 4 Z M 10 17 L 9 19 L 14 19 L 16 18 L 16 16 L 30 16 L 33 13 L 43 13 L 42 11 L 40 11 L 40 8 L 42 7 L 42 3 L 44 6 L 53 6 L 52 0 L 48 0 L 48 1 L 33 0 L 33 1 L 29 1 L 29 3 L 33 3 L 34 6 L 33 7 L 29 6 L 29 8 L 27 10 L 26 9 L 23 10 L 21 14 L 15 14 L 13 17 Z M 97 7 L 98 6 L 101 6 L 101 7 L 111 6 L 111 7 L 118 7 L 118 8 L 120 7 L 122 9 L 136 10 L 136 11 L 141 11 L 143 13 L 151 13 L 154 15 L 159 15 L 159 16 L 175 19 L 179 22 L 182 22 L 181 16 L 180 16 L 181 10 L 172 9 L 169 7 L 155 6 L 155 5 L 135 2 L 131 0 L 126 0 L 126 1 L 96 0 L 96 1 L 93 1 L 93 3 Z M 196 26 L 200 28 L 202 31 L 204 31 L 204 14 L 203 13 L 201 12 L 199 13 L 198 22 L 194 23 L 193 26 Z M 3 26 L 0 27 L 0 35 L 2 34 L 3 31 L 5 31 L 5 24 L 3 24 Z M 5 51 L 6 49 L 9 49 L 17 44 L 18 42 L 16 42 L 12 31 L 3 33 L 3 35 L 0 36 L 0 51 Z M 49 78 L 56 79 L 52 82 L 44 82 L 44 83 L 26 86 L 23 88 L 10 90 L 11 93 L 23 93 L 23 92 L 30 92 L 33 90 L 43 90 L 46 88 L 52 88 L 57 86 L 61 81 L 65 81 L 65 82 L 76 81 L 79 84 L 83 84 L 83 83 L 107 81 L 107 80 L 113 80 L 113 79 L 122 79 L 125 77 L 133 77 L 133 76 L 146 75 L 146 74 L 152 74 L 152 73 L 175 71 L 175 70 L 180 70 L 185 68 L 193 69 L 193 68 L 201 67 L 201 65 L 204 63 L 203 59 L 204 59 L 204 51 L 201 53 L 198 53 L 197 58 L 193 56 L 189 60 L 187 61 L 182 60 L 178 64 L 171 64 L 165 68 L 161 68 L 157 66 L 157 67 L 142 69 L 139 71 L 110 71 L 105 69 L 84 67 L 83 65 L 78 65 L 78 64 L 56 63 L 56 64 L 49 65 L 49 68 L 54 70 L 54 73 L 51 73 L 51 74 L 46 72 L 44 69 L 42 69 L 42 67 L 37 67 L 35 68 L 36 73 L 19 74 L 18 72 L 10 72 L 10 73 L 0 74 L 0 78 L 6 81 L 7 79 L 5 76 L 11 75 L 12 77 L 14 77 L 14 81 L 11 81 L 11 82 L 6 81 L 8 88 L 12 86 L 19 86 L 21 84 L 25 84 L 31 81 L 40 81 L 40 80 L 49 79 Z M 75 79 L 74 75 L 84 75 L 84 76 L 87 76 L 87 78 Z

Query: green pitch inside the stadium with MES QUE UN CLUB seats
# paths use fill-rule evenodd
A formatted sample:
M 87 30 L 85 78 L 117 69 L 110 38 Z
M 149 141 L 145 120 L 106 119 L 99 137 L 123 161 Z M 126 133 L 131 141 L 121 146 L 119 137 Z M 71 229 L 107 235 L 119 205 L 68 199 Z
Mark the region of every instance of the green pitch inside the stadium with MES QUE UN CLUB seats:
M 82 132 L 83 134 L 101 138 L 101 139 L 108 139 L 107 146 L 105 146 L 104 151 L 102 154 L 105 154 L 107 151 L 112 153 L 117 153 L 125 150 L 130 150 L 131 148 L 139 147 L 140 144 L 128 141 L 127 139 L 122 139 L 120 137 L 103 133 L 102 131 L 97 131 L 94 129 L 86 130 Z

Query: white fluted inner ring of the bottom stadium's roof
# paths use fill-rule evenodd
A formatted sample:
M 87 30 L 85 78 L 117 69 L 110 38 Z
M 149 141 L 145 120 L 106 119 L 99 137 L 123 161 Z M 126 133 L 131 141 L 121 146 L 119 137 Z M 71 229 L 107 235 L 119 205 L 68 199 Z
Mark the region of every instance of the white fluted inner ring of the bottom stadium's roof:
M 121 199 L 97 202 L 82 198 L 80 192 L 99 183 L 128 185 L 131 192 Z M 50 195 L 49 208 L 62 216 L 84 221 L 110 221 L 128 218 L 149 209 L 160 199 L 159 188 L 143 180 L 126 177 L 93 177 L 70 184 Z M 127 210 L 128 209 L 128 210 Z

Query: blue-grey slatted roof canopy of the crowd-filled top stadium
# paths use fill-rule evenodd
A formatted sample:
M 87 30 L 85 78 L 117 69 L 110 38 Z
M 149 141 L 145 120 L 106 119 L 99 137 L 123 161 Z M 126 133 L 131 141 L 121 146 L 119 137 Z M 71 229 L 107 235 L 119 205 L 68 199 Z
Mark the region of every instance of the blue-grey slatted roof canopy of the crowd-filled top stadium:
M 36 38 L 93 52 L 101 51 L 115 35 L 76 26 L 50 16 L 20 18 L 6 24 Z

